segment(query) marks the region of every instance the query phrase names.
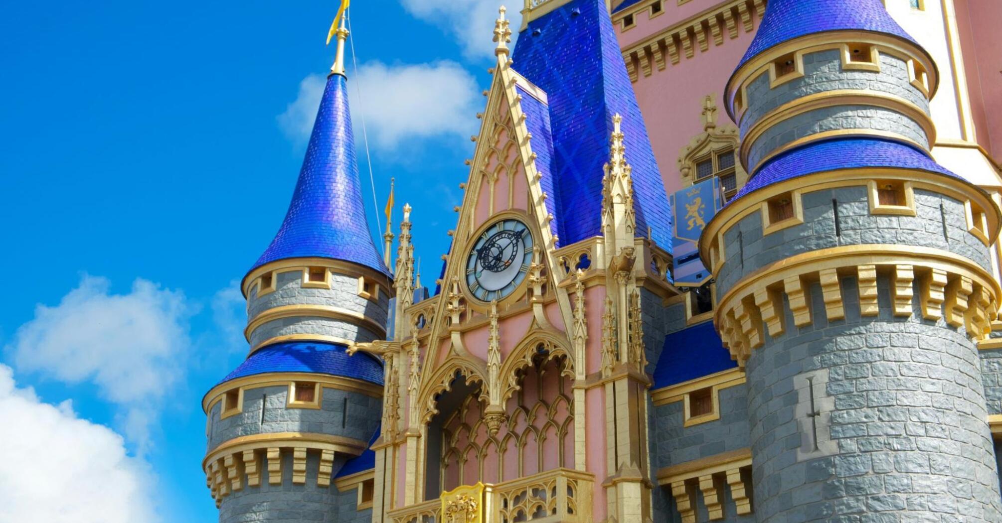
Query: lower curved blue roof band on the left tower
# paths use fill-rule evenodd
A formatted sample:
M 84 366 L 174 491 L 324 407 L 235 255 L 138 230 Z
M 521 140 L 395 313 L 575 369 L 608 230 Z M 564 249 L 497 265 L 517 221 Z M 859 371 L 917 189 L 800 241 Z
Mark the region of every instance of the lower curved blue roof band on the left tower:
M 366 353 L 349 356 L 340 344 L 281 343 L 254 352 L 219 384 L 268 373 L 313 373 L 383 385 L 383 364 Z

